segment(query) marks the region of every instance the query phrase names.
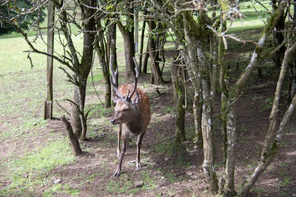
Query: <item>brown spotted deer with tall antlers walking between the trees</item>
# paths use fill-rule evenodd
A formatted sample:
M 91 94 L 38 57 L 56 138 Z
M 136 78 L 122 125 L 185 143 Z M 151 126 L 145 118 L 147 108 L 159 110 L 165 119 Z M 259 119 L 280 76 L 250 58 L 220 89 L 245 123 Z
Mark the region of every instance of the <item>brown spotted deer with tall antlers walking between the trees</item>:
M 121 171 L 121 164 L 127 148 L 129 148 L 129 136 L 137 136 L 137 160 L 136 169 L 141 170 L 140 149 L 143 136 L 147 130 L 151 119 L 150 101 L 143 90 L 137 87 L 139 78 L 139 66 L 135 62 L 135 71 L 132 72 L 134 84 L 123 84 L 117 88 L 118 67 L 114 72 L 111 65 L 111 84 L 115 103 L 114 116 L 111 118 L 111 124 L 118 125 L 117 129 L 117 169 L 113 177 L 118 177 Z M 131 93 L 130 93 L 131 91 Z M 120 150 L 120 136 L 122 137 L 122 147 Z

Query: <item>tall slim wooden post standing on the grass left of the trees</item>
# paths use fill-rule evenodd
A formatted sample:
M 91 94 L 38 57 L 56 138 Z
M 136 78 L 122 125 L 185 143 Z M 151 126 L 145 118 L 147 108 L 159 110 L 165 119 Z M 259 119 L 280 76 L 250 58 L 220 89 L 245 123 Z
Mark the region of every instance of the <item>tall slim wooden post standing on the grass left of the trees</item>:
M 53 35 L 54 31 L 54 6 L 47 6 L 47 53 L 53 54 Z M 52 119 L 52 70 L 53 70 L 53 58 L 47 56 L 47 85 L 46 85 L 46 100 L 44 102 L 44 120 Z

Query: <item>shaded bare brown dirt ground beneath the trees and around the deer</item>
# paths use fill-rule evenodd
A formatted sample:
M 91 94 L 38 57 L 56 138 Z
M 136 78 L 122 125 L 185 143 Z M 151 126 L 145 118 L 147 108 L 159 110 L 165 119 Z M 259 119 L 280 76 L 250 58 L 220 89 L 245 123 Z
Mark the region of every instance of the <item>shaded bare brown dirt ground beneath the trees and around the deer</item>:
M 248 55 L 249 53 L 246 52 L 246 56 Z M 227 54 L 228 59 L 234 56 L 234 53 Z M 247 60 L 248 58 L 244 59 L 244 61 Z M 237 60 L 237 62 L 239 61 L 242 60 Z M 229 66 L 235 69 L 236 62 L 230 62 Z M 51 170 L 48 176 L 54 176 L 60 184 L 69 184 L 72 188 L 79 190 L 80 194 L 77 195 L 79 197 L 210 197 L 208 184 L 201 167 L 203 150 L 197 148 L 193 143 L 194 121 L 189 112 L 186 112 L 185 120 L 187 140 L 181 145 L 174 144 L 176 115 L 168 70 L 165 73 L 167 83 L 161 86 L 149 85 L 149 74 L 140 75 L 139 87 L 148 94 L 152 110 L 151 122 L 142 142 L 142 170 L 137 171 L 135 167 L 137 151 L 135 140 L 132 139 L 131 147 L 124 156 L 120 177 L 112 177 L 117 165 L 117 131 L 109 121 L 112 115 L 112 112 L 109 111 L 104 113 L 102 117 L 99 113 L 89 117 L 88 139 L 80 142 L 84 151 L 83 156 L 77 157 L 75 164 L 63 165 Z M 263 78 L 259 78 L 255 72 L 252 80 L 248 82 L 249 85 L 237 101 L 236 186 L 246 180 L 259 162 L 260 149 L 268 130 L 270 107 L 277 83 L 276 72 L 264 73 Z M 233 81 L 236 80 L 235 76 L 234 71 Z M 102 83 L 102 81 L 97 83 Z M 156 92 L 156 89 L 160 94 Z M 279 120 L 288 107 L 285 92 L 282 95 Z M 221 92 L 218 91 L 214 116 L 215 131 L 213 133 L 217 151 L 215 168 L 218 176 L 223 170 L 219 120 L 220 97 Z M 97 98 L 95 94 L 92 94 L 88 99 L 95 100 Z M 14 117 L 6 117 L 6 121 L 15 124 Z M 8 129 L 8 126 L 2 127 L 2 130 Z M 54 131 L 56 138 L 63 138 L 67 135 L 65 126 L 60 120 L 49 121 L 44 130 L 44 135 L 46 132 Z M 13 142 L 0 140 L 3 150 L 0 152 L 0 158 L 5 155 L 5 151 L 15 151 L 17 157 L 24 154 L 22 151 L 24 146 L 29 147 L 26 150 L 30 152 L 34 147 L 42 146 L 48 140 L 52 140 L 42 138 L 42 133 L 40 133 L 40 139 L 42 140 L 38 144 L 32 142 L 30 146 L 23 144 L 22 137 L 14 138 Z M 11 146 L 13 143 L 18 146 Z M 91 178 L 87 178 L 90 176 Z M 46 189 L 56 184 L 55 180 L 50 184 L 34 188 L 35 194 L 33 196 L 43 196 Z M 136 181 L 143 181 L 143 187 L 136 188 Z M 0 189 L 7 185 L 9 182 L 2 182 Z M 57 192 L 54 193 L 54 196 L 72 195 Z M 296 197 L 295 116 L 286 129 L 279 153 L 261 174 L 249 196 Z

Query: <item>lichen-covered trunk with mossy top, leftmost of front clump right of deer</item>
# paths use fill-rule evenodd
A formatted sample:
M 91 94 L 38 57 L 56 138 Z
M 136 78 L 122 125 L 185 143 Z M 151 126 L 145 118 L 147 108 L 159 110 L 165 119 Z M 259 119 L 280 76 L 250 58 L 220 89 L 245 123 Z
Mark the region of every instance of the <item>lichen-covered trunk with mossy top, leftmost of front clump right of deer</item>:
M 189 75 L 191 73 L 192 77 L 194 76 L 196 80 L 194 89 L 197 93 L 195 94 L 195 97 L 199 97 L 199 100 L 201 101 L 202 105 L 201 131 L 203 136 L 204 149 L 204 163 L 202 167 L 204 169 L 206 179 L 210 186 L 211 193 L 217 194 L 218 179 L 214 168 L 215 151 L 212 138 L 213 119 L 211 107 L 211 95 L 213 95 L 214 93 L 211 92 L 211 81 L 209 75 L 211 64 L 209 62 L 210 58 L 207 56 L 209 49 L 207 48 L 206 43 L 209 34 L 206 30 L 202 28 L 203 26 L 201 25 L 201 21 L 207 21 L 209 24 L 211 24 L 211 20 L 209 20 L 209 18 L 205 15 L 204 11 L 202 10 L 200 10 L 199 12 L 200 18 L 198 19 L 197 23 L 193 19 L 193 15 L 190 12 L 184 11 L 183 15 L 188 54 L 190 57 L 190 61 L 193 61 L 193 65 L 196 64 L 196 67 L 193 67 L 192 62 L 190 62 L 190 64 L 187 65 L 187 69 Z

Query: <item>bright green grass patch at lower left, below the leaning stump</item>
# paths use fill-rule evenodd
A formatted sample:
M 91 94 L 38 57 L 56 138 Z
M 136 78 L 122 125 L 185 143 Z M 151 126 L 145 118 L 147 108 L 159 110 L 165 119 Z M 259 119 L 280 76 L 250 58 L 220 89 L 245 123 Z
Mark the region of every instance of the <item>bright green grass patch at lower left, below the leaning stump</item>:
M 34 188 L 41 188 L 50 184 L 52 175 L 48 177 L 47 174 L 52 169 L 75 163 L 68 143 L 62 140 L 49 142 L 45 147 L 37 147 L 23 157 L 14 158 L 12 155 L 4 158 L 4 160 L 7 162 L 1 164 L 1 175 L 5 176 L 10 184 L 1 189 L 0 196 L 3 197 L 11 194 L 16 195 L 21 191 L 34 194 Z M 55 192 L 57 187 L 58 185 L 54 187 L 55 189 L 52 192 Z M 70 189 L 71 187 L 64 188 L 65 192 L 70 192 Z

